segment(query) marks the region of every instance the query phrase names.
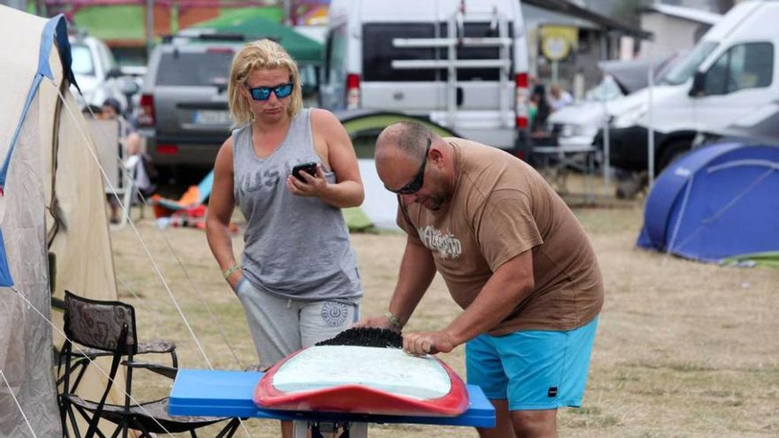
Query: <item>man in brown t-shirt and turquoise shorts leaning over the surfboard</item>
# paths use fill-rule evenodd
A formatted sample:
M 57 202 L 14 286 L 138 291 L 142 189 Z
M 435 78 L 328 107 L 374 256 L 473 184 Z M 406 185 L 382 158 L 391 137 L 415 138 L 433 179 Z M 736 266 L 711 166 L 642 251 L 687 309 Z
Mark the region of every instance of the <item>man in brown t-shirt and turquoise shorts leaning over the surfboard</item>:
M 441 273 L 465 311 L 439 331 L 404 334 L 404 349 L 467 342 L 467 380 L 496 408 L 482 437 L 556 436 L 557 408 L 582 403 L 603 305 L 574 214 L 521 160 L 411 122 L 380 134 L 376 170 L 398 194 L 408 238 L 389 311 L 359 326 L 400 330 Z

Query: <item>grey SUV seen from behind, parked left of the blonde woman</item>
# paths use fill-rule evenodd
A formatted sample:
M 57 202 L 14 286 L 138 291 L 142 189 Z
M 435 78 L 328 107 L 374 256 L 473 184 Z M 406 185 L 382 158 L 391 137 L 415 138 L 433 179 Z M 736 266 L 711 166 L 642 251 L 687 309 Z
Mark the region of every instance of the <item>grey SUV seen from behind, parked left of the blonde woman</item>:
M 138 127 L 160 173 L 210 169 L 230 134 L 230 65 L 243 35 L 190 29 L 152 51 L 143 80 Z M 299 65 L 301 85 L 315 90 L 316 73 Z M 305 99 L 304 99 L 305 100 Z

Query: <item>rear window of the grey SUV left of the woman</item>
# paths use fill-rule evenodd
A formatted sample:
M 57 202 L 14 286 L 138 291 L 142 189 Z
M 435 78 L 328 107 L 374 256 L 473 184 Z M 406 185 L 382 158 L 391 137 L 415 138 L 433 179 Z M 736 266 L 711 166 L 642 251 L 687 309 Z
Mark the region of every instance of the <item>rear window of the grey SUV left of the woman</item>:
M 231 50 L 163 53 L 159 59 L 157 85 L 181 87 L 225 85 L 229 81 Z

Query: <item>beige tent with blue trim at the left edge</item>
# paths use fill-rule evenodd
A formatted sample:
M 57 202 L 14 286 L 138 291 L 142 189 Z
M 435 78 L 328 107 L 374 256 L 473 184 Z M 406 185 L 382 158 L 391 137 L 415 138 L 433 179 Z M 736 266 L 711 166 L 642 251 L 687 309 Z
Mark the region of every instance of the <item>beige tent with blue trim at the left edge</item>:
M 0 42 L 0 434 L 62 436 L 51 297 L 116 297 L 103 179 L 68 90 L 65 19 L 0 6 Z M 93 398 L 104 378 L 89 369 L 80 388 Z

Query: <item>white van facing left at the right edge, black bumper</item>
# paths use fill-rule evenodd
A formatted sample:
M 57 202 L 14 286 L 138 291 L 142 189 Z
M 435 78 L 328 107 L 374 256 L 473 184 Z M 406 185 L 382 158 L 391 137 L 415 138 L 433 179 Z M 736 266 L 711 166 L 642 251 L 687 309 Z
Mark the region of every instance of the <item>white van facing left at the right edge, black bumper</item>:
M 613 119 L 611 162 L 629 172 L 648 168 L 648 129 L 654 132 L 655 169 L 690 150 L 696 136 L 728 126 L 779 99 L 779 2 L 744 1 L 731 9 L 690 52 L 691 61 L 672 69 L 682 86 L 646 96 L 635 111 Z M 668 78 L 668 75 L 666 76 Z M 650 106 L 650 102 L 652 102 Z

